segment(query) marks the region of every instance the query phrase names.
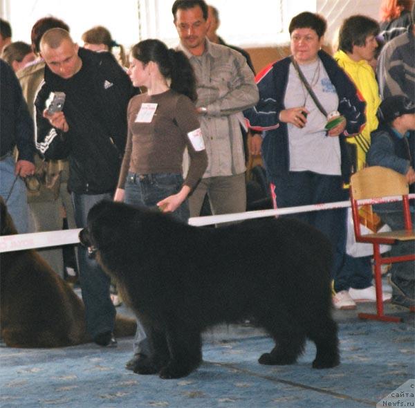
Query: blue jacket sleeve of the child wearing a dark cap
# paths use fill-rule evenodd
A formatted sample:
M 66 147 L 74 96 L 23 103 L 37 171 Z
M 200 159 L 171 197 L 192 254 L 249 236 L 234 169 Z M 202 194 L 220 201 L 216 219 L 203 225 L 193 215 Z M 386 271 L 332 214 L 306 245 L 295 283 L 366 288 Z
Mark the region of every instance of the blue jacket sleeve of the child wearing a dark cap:
M 371 146 L 366 154 L 366 162 L 369 166 L 388 167 L 400 174 L 407 174 L 411 167 L 409 160 L 394 154 L 394 143 L 382 131 L 371 133 Z

